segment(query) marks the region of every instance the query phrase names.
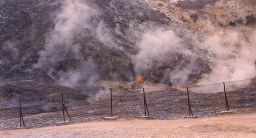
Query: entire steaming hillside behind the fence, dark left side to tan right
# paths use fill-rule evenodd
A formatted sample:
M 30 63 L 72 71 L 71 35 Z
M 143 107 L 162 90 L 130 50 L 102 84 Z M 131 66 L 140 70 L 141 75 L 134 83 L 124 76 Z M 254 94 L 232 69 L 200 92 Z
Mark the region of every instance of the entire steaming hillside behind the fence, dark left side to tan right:
M 211 73 L 216 76 L 216 62 L 243 61 L 238 58 L 242 48 L 230 49 L 254 41 L 250 34 L 256 10 L 254 0 L 200 2 L 1 0 L 0 79 L 73 88 L 94 87 L 99 80 L 133 81 L 137 76 L 171 86 L 209 80 Z M 232 37 L 242 39 L 222 40 L 232 31 L 238 32 Z M 209 48 L 214 44 L 230 49 L 218 52 Z M 246 59 L 254 68 L 254 57 Z M 233 72 L 220 79 L 240 79 L 233 75 L 235 67 L 227 67 Z

